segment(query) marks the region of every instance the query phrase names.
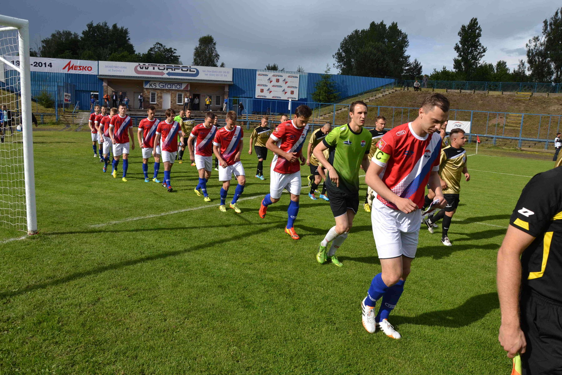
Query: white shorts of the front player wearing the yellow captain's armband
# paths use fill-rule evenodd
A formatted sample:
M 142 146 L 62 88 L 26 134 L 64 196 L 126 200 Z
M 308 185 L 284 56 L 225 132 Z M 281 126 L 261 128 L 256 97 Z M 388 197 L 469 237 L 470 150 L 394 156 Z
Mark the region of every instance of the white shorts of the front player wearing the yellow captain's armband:
M 384 205 L 375 195 L 371 223 L 379 258 L 389 259 L 402 255 L 415 258 L 421 219 L 422 210 L 405 214 Z

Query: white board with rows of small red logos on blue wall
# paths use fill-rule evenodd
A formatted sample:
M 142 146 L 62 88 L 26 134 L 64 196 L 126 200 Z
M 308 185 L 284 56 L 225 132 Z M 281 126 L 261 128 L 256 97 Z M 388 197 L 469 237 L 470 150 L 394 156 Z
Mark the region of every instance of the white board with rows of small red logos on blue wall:
M 298 74 L 256 73 L 256 98 L 298 100 Z

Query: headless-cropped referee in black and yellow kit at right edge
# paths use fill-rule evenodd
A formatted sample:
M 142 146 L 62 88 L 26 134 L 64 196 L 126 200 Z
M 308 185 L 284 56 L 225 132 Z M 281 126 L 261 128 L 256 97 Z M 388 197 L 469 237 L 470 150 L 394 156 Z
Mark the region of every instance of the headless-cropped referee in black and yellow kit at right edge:
M 523 189 L 497 255 L 500 344 L 522 375 L 562 374 L 562 166 Z

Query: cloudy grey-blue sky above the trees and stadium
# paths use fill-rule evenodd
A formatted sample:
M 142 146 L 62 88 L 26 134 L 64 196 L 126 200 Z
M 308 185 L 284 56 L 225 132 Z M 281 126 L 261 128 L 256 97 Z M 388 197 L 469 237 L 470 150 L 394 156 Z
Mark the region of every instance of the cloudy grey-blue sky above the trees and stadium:
M 430 74 L 443 65 L 452 69 L 457 33 L 471 17 L 478 17 L 482 27 L 488 48 L 484 60 L 506 60 L 515 67 L 525 59 L 527 40 L 540 34 L 542 21 L 560 5 L 546 0 L 19 0 L 3 2 L 0 13 L 30 20 L 32 47 L 57 29 L 80 34 L 89 21 L 107 21 L 129 28 L 137 52 L 161 42 L 178 49 L 186 65 L 192 63 L 198 38 L 211 34 L 227 67 L 264 69 L 277 63 L 285 70 L 301 65 L 315 73 L 333 65 L 332 55 L 351 31 L 368 28 L 371 21 L 396 21 L 409 37 L 411 59 L 418 58 Z

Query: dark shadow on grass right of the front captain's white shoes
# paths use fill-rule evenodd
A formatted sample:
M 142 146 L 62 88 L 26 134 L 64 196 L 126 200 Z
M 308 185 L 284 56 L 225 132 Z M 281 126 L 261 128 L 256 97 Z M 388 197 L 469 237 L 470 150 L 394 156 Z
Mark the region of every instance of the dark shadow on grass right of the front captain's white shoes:
M 410 318 L 395 315 L 392 323 L 459 328 L 478 322 L 490 311 L 498 308 L 500 302 L 497 293 L 493 292 L 470 297 L 464 304 L 449 310 L 430 311 Z

